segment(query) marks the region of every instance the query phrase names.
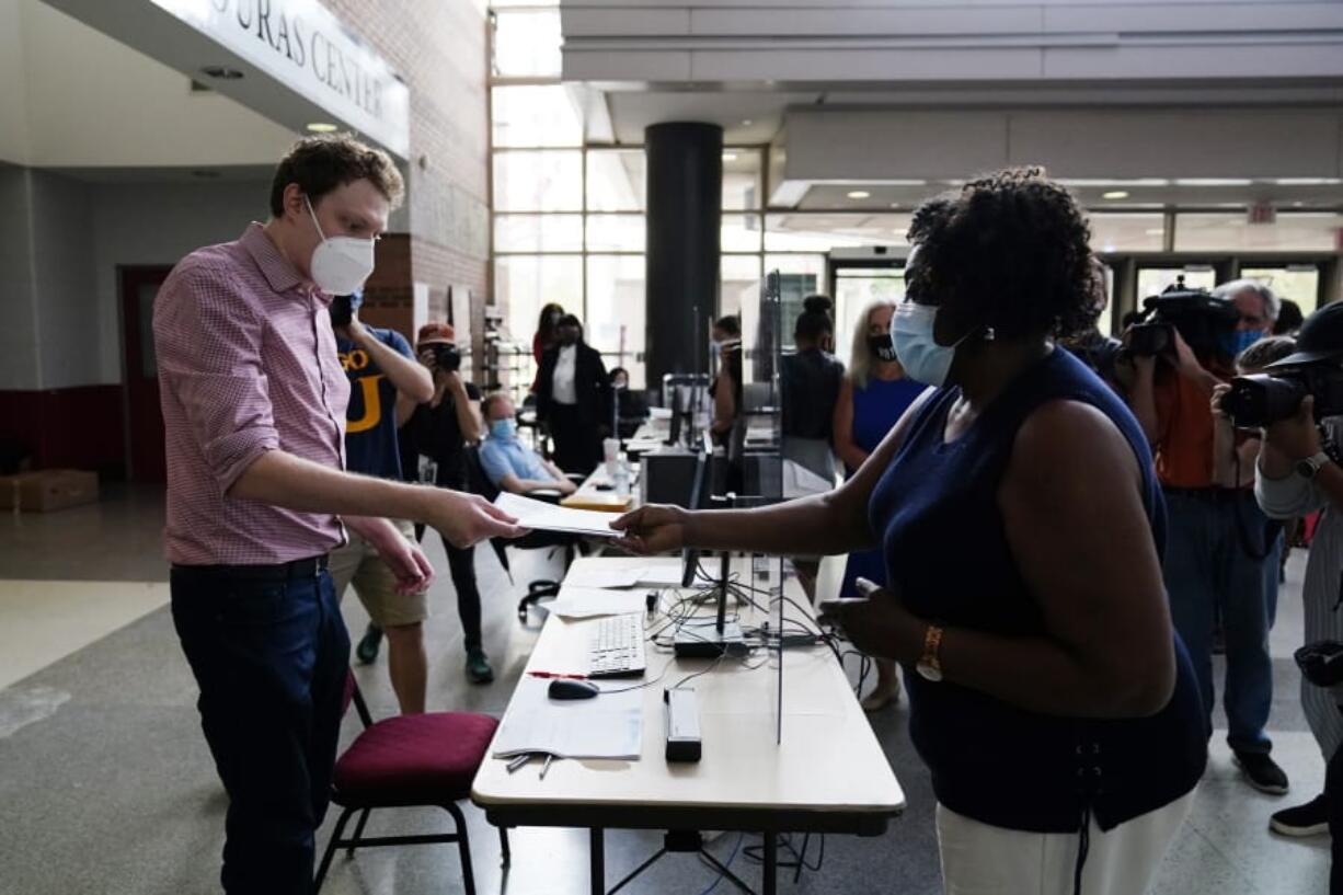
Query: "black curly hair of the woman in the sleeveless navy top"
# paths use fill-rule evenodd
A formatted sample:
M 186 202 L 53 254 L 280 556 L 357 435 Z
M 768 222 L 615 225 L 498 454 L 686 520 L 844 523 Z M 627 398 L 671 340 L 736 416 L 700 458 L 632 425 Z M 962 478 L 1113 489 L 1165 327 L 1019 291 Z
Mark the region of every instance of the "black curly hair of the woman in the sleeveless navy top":
M 909 296 L 999 339 L 1073 336 L 1096 325 L 1091 226 L 1044 168 L 1007 168 L 915 212 Z

